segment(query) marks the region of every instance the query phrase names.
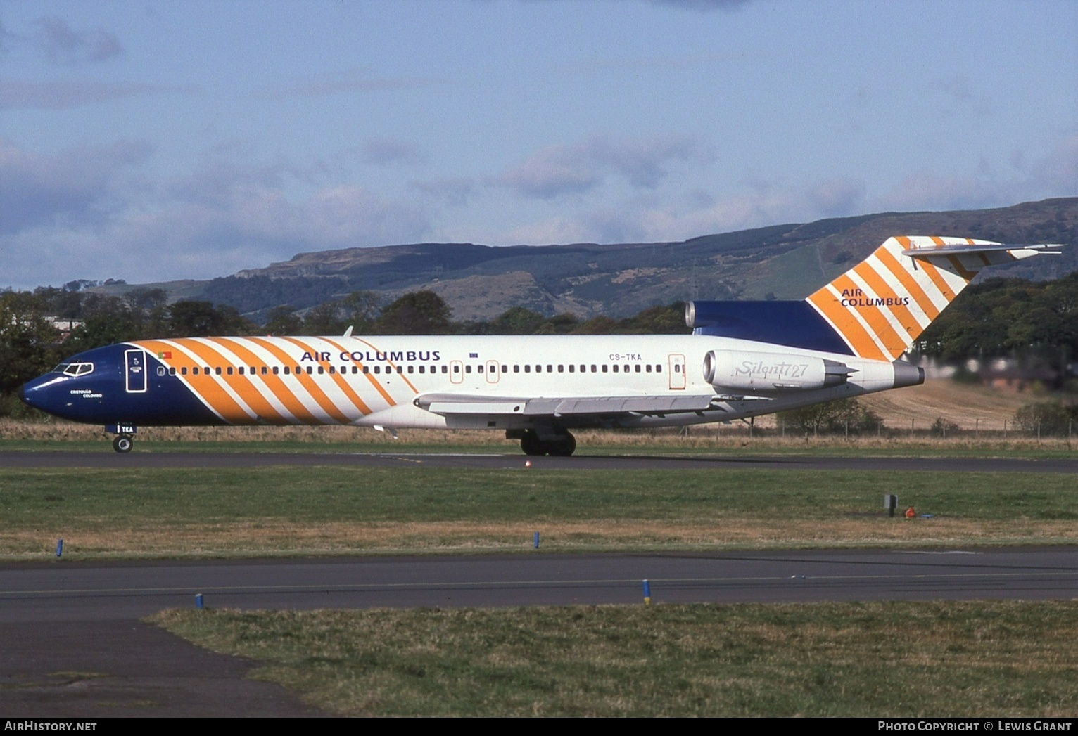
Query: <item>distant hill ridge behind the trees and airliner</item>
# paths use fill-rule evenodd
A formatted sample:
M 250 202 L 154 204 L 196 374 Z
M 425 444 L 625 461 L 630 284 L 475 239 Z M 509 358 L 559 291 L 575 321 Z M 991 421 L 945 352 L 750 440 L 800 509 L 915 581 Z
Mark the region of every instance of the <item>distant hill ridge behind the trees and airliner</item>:
M 312 307 L 351 291 L 386 301 L 431 289 L 454 319 L 489 319 L 513 306 L 544 315 L 625 317 L 692 298 L 802 298 L 893 235 L 958 235 L 1003 242 L 1078 246 L 1078 197 L 997 209 L 883 212 L 705 235 L 682 242 L 490 247 L 424 242 L 300 253 L 265 268 L 160 287 L 171 298 L 222 302 L 261 317 L 272 307 Z M 1078 269 L 1078 247 L 1061 256 L 995 268 L 993 276 L 1045 280 Z

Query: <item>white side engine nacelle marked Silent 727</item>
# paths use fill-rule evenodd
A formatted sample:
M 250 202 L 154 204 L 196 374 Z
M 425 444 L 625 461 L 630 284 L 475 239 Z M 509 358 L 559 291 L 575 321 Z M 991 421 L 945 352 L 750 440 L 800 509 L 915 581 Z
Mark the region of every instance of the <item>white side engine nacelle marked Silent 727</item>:
M 812 356 L 749 350 L 708 350 L 704 380 L 737 391 L 807 391 L 846 383 L 855 373 L 844 363 Z

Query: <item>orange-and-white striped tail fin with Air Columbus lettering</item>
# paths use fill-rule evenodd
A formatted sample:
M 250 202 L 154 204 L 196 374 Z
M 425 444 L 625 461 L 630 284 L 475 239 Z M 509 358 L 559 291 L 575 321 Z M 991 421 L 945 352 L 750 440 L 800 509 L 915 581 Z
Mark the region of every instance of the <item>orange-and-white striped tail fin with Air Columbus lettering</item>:
M 894 360 L 981 268 L 1037 255 L 1049 248 L 1061 246 L 1005 246 L 920 235 L 893 237 L 805 302 L 854 355 Z

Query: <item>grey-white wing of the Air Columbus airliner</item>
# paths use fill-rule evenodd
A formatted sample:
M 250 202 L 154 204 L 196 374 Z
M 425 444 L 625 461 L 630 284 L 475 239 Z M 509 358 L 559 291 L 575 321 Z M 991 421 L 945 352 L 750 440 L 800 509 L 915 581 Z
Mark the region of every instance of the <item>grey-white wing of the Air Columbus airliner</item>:
M 618 414 L 677 414 L 703 412 L 711 406 L 714 394 L 651 397 L 479 397 L 456 393 L 427 393 L 415 405 L 433 414 L 573 416 Z

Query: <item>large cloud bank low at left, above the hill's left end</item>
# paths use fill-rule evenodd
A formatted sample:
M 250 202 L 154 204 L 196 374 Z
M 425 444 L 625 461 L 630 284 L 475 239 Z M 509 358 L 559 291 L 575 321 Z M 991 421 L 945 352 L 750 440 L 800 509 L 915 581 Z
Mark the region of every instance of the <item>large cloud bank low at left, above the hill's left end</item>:
M 138 178 L 144 156 L 130 143 L 52 157 L 0 148 L 3 279 L 27 288 L 211 278 L 296 252 L 414 242 L 431 232 L 414 203 L 312 185 L 288 162 L 212 161 L 153 182 Z

